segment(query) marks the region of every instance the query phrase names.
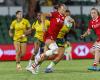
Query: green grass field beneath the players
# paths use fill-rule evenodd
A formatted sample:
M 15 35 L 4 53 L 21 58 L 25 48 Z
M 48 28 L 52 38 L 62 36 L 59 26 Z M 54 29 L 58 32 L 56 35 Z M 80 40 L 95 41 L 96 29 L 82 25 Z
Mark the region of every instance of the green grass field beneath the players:
M 13 61 L 0 62 L 0 80 L 100 80 L 100 72 L 88 71 L 87 67 L 93 60 L 61 61 L 55 66 L 54 73 L 44 73 L 49 64 L 45 61 L 41 65 L 39 74 L 32 75 L 25 70 L 27 61 L 22 61 L 23 71 L 16 71 L 16 64 Z

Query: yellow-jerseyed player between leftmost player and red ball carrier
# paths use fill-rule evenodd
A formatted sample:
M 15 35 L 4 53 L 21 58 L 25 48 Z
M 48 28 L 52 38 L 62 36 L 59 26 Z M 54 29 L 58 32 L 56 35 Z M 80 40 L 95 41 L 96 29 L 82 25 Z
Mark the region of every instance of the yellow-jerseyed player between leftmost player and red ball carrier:
M 35 61 L 37 61 L 37 58 L 40 56 L 39 54 L 43 52 L 43 50 L 41 50 L 44 46 L 43 35 L 46 29 L 49 27 L 50 22 L 49 20 L 46 19 L 44 22 L 45 27 L 43 27 L 41 14 L 42 14 L 41 12 L 37 13 L 36 21 L 32 24 L 32 30 L 35 30 L 35 35 L 33 38 L 34 51 L 33 51 L 33 54 L 31 55 L 31 58 L 29 60 L 28 66 L 26 67 L 26 70 L 28 70 L 32 66 L 32 60 L 34 60 L 35 55 L 37 55 L 38 53 L 37 57 L 35 57 Z

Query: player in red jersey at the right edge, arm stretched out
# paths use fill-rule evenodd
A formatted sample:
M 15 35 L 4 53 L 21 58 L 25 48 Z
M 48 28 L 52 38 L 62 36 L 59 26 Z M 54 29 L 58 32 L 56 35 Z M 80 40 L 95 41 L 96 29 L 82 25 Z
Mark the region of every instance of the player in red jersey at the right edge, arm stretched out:
M 100 61 L 100 16 L 99 11 L 96 8 L 92 8 L 90 11 L 92 19 L 89 21 L 87 31 L 81 35 L 81 38 L 84 38 L 87 35 L 90 35 L 91 29 L 93 29 L 97 35 L 97 40 L 93 44 L 93 47 L 90 49 L 90 53 L 94 54 L 94 63 L 92 67 L 89 67 L 89 70 L 100 70 L 97 68 L 97 65 Z

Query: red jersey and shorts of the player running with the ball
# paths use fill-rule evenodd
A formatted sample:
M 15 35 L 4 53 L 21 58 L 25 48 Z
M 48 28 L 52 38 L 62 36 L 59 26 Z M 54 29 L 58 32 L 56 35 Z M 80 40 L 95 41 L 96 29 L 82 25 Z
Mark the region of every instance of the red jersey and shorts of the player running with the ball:
M 45 34 L 45 39 L 56 40 L 60 29 L 63 27 L 64 16 L 58 11 L 51 12 L 52 16 L 50 18 L 50 26 Z

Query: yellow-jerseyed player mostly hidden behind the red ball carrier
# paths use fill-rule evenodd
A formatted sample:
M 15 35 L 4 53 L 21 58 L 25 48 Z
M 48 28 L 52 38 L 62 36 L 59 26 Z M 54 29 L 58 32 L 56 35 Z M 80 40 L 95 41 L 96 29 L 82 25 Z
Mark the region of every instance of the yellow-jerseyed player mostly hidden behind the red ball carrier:
M 66 15 L 66 18 L 67 16 L 70 16 L 70 11 L 69 10 L 66 10 L 65 12 L 65 15 Z M 74 19 L 69 19 L 70 22 L 73 24 L 75 24 L 75 21 Z M 56 40 L 56 43 L 59 47 L 59 53 L 57 55 L 57 57 L 55 57 L 55 59 L 48 65 L 48 67 L 45 69 L 45 72 L 46 73 L 50 73 L 50 72 L 53 72 L 53 67 L 59 63 L 59 61 L 63 58 L 64 56 L 64 52 L 65 52 L 65 39 L 64 39 L 64 36 L 66 33 L 68 33 L 70 31 L 72 26 L 69 26 L 69 25 L 63 25 L 62 29 L 60 30 L 58 36 L 57 36 L 57 40 Z

